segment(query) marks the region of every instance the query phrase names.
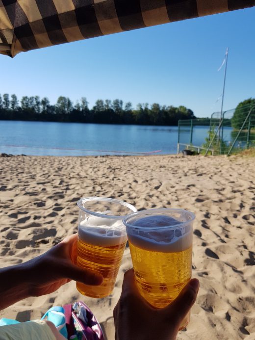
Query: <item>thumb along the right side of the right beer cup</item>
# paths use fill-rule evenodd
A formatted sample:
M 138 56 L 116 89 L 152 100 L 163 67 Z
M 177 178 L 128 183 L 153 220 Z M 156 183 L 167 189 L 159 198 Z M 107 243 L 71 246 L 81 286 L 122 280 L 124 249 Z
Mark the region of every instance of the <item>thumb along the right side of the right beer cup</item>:
M 198 279 L 191 279 L 178 297 L 165 308 L 171 320 L 180 323 L 194 305 L 199 290 Z

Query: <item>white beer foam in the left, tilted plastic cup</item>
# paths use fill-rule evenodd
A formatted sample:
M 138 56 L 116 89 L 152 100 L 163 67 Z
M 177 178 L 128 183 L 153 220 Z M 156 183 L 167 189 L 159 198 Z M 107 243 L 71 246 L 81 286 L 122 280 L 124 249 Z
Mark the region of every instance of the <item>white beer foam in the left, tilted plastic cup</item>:
M 122 222 L 114 219 L 103 219 L 90 216 L 78 227 L 78 236 L 85 243 L 99 247 L 115 246 L 127 241 L 126 229 Z

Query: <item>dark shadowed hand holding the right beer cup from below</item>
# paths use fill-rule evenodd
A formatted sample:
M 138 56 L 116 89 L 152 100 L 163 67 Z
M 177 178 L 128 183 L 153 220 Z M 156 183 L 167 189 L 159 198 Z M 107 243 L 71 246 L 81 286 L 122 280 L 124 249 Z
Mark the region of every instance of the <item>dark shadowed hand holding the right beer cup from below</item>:
M 128 270 L 113 311 L 115 340 L 176 340 L 181 321 L 195 303 L 198 290 L 199 281 L 191 279 L 169 306 L 154 309 L 140 295 L 133 269 Z

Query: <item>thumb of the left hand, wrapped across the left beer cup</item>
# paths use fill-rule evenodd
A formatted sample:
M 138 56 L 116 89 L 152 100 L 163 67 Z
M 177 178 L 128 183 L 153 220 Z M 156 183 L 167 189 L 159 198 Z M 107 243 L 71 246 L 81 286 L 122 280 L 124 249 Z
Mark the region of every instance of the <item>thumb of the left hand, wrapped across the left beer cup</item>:
M 85 285 L 99 286 L 102 284 L 103 277 L 101 274 L 78 267 L 75 264 L 68 264 L 63 268 L 64 277 Z

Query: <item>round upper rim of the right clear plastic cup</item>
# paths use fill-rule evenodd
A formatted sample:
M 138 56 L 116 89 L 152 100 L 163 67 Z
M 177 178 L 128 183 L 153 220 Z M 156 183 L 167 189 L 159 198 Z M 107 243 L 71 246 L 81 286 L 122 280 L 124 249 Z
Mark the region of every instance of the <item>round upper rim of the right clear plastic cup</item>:
M 162 214 L 164 212 L 181 212 L 181 211 L 186 211 L 188 212 L 190 215 L 191 215 L 191 219 L 190 220 L 187 220 L 185 222 L 180 222 L 178 224 L 175 224 L 174 226 L 164 226 L 164 227 L 152 227 L 152 228 L 144 228 L 144 227 L 139 227 L 139 226 L 134 226 L 130 223 L 128 223 L 128 219 L 131 218 L 131 217 L 135 217 L 137 215 L 141 215 L 141 217 L 143 215 L 151 215 L 153 213 L 158 213 L 158 214 Z M 136 211 L 136 212 L 132 212 L 128 215 L 126 215 L 124 218 L 123 218 L 123 223 L 125 224 L 126 227 L 128 228 L 132 228 L 132 229 L 141 229 L 141 231 L 155 231 L 155 230 L 172 230 L 172 229 L 178 229 L 180 227 L 185 227 L 186 225 L 190 224 L 191 222 L 194 221 L 196 215 L 194 214 L 194 212 L 192 211 L 189 211 L 189 210 L 186 210 L 186 209 L 175 209 L 175 208 L 156 208 L 156 209 L 145 209 L 145 210 L 139 210 L 139 211 Z

